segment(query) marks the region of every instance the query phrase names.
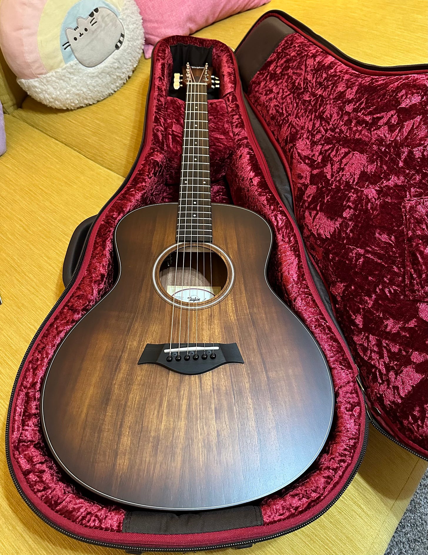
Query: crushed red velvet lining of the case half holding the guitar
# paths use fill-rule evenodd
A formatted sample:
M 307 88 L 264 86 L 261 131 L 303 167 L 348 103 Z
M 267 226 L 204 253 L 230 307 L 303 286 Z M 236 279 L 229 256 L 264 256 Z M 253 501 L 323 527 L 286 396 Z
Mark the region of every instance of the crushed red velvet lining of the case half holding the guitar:
M 56 465 L 40 429 L 39 392 L 56 346 L 70 327 L 111 287 L 112 234 L 130 210 L 176 200 L 183 105 L 166 98 L 172 59 L 169 44 L 213 45 L 213 65 L 221 80 L 221 99 L 210 101 L 213 200 L 236 204 L 263 215 L 275 235 L 270 280 L 321 345 L 331 367 L 336 412 L 331 435 L 321 455 L 299 481 L 262 502 L 264 526 L 209 534 L 121 533 L 125 510 L 75 485 Z M 267 536 L 297 526 L 322 511 L 341 491 L 354 470 L 364 440 L 364 407 L 355 382 L 355 367 L 322 306 L 303 256 L 295 224 L 279 201 L 265 161 L 249 128 L 236 63 L 216 41 L 172 37 L 158 43 L 147 106 L 145 148 L 130 181 L 105 208 L 87 244 L 73 286 L 38 335 L 14 393 L 9 448 L 14 473 L 24 494 L 51 522 L 79 536 L 104 542 L 151 547 L 208 546 Z M 174 137 L 174 138 L 172 138 Z M 221 137 L 216 142 L 215 137 Z M 221 171 L 223 168 L 223 171 Z M 224 170 L 226 179 L 224 180 Z

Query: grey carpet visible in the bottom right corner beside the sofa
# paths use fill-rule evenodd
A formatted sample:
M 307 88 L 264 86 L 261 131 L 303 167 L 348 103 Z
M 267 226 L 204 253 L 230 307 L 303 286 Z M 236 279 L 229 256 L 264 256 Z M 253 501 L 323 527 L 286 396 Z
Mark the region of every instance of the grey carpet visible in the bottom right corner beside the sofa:
M 428 471 L 412 497 L 409 507 L 389 542 L 385 555 L 427 555 L 428 553 Z

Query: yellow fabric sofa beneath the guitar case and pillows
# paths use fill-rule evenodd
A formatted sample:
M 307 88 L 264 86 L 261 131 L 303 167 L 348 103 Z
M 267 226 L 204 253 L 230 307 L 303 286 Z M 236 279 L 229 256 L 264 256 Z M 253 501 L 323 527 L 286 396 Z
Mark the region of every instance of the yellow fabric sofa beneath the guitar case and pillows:
M 404 4 L 398 0 L 272 0 L 196 34 L 236 47 L 268 9 L 290 13 L 363 62 L 427 61 L 427 6 L 420 0 Z M 97 213 L 121 185 L 135 159 L 149 69 L 150 60 L 141 59 L 117 93 L 98 104 L 67 112 L 27 97 L 0 53 L 0 100 L 6 112 L 8 148 L 0 158 L 2 433 L 20 361 L 63 291 L 61 265 L 70 236 L 76 225 Z M 426 466 L 371 428 L 362 466 L 337 503 L 310 526 L 256 544 L 249 553 L 380 555 Z M 102 547 L 65 537 L 40 521 L 19 497 L 4 456 L 0 468 L 0 555 L 107 553 Z

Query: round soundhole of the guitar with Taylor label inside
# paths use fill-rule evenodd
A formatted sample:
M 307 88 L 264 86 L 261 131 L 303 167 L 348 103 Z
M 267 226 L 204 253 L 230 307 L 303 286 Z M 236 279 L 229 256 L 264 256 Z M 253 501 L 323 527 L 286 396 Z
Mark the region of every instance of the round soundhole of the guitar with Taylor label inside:
M 153 281 L 168 302 L 190 308 L 211 306 L 223 299 L 233 282 L 229 257 L 214 245 L 171 246 L 159 256 Z

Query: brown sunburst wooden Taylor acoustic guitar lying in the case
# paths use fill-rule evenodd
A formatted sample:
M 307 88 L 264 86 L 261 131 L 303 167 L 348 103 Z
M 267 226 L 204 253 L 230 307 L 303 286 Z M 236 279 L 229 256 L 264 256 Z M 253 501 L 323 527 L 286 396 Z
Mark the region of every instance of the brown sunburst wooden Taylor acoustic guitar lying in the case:
M 229 507 L 296 480 L 332 423 L 328 365 L 271 290 L 261 216 L 212 204 L 207 91 L 183 68 L 179 202 L 115 229 L 114 287 L 60 343 L 42 426 L 56 460 L 92 492 L 169 511 Z

